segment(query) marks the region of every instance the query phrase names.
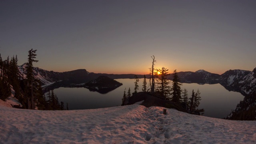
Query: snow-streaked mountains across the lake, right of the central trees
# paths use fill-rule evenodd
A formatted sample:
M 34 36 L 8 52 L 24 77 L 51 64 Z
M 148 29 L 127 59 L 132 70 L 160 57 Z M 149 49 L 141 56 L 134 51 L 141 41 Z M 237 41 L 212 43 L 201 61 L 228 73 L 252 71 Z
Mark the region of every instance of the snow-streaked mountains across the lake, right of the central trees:
M 196 72 L 178 72 L 182 83 L 221 84 L 229 91 L 250 95 L 256 88 L 256 68 L 248 70 L 228 70 L 224 74 L 213 74 L 205 70 Z M 172 79 L 172 74 L 169 77 Z

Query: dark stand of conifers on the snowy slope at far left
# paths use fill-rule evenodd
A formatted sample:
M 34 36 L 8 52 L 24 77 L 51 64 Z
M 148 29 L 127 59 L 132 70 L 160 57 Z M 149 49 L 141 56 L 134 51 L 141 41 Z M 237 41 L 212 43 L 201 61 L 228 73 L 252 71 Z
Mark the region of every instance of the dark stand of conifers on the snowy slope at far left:
M 51 92 L 49 100 L 43 94 L 41 82 L 34 76 L 33 63 L 36 59 L 37 50 L 28 51 L 28 62 L 26 63 L 26 78 L 24 72 L 18 69 L 18 58 L 12 57 L 2 60 L 0 54 L 0 99 L 6 99 L 14 92 L 14 97 L 25 109 L 38 110 L 64 110 L 64 102 L 58 102 L 57 96 Z M 53 96 L 54 95 L 54 96 Z M 68 108 L 67 108 L 68 109 Z

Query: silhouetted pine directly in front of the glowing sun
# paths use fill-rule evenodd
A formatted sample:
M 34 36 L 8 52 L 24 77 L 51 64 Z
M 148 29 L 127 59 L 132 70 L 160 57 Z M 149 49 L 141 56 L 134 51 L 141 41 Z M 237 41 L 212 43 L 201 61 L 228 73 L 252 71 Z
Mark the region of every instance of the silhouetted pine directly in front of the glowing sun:
M 170 80 L 167 79 L 167 76 L 170 75 L 168 69 L 162 67 L 162 69 L 156 69 L 156 71 L 156 91 L 160 93 L 162 98 L 167 98 L 170 96 L 170 86 L 168 86 Z

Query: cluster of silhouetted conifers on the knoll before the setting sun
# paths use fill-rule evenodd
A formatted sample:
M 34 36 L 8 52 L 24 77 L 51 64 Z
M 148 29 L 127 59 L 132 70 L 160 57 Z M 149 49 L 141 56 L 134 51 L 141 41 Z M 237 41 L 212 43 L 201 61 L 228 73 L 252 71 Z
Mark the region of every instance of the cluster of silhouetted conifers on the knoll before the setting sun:
M 174 70 L 173 72 L 173 80 L 172 80 L 172 86 L 169 86 L 171 81 L 168 79 L 168 69 L 162 67 L 161 69 L 155 69 L 154 65 L 156 63 L 155 57 L 151 56 L 152 58 L 152 66 L 150 69 L 150 78 L 149 78 L 149 85 L 148 89 L 146 87 L 146 76 L 144 75 L 144 80 L 142 84 L 142 92 L 150 92 L 153 96 L 156 96 L 158 98 L 162 98 L 165 100 L 168 100 L 170 102 L 174 102 L 176 104 L 185 104 L 186 109 L 189 112 L 200 112 L 203 114 L 204 109 L 198 109 L 198 106 L 200 104 L 201 96 L 200 91 L 197 90 L 197 92 L 194 92 L 192 90 L 192 95 L 190 98 L 188 98 L 188 90 L 181 89 L 181 83 L 180 78 L 178 77 L 177 70 Z M 134 82 L 134 92 L 132 94 L 136 94 L 138 92 L 139 86 L 138 82 L 139 79 L 135 75 L 135 82 Z M 125 89 L 126 90 L 126 89 Z M 125 105 L 128 102 L 129 97 L 126 95 L 126 91 L 124 90 L 124 95 L 122 98 L 122 105 Z M 130 88 L 128 90 L 130 94 Z

